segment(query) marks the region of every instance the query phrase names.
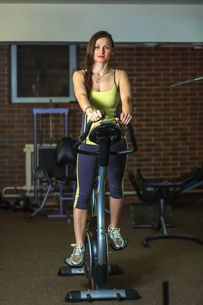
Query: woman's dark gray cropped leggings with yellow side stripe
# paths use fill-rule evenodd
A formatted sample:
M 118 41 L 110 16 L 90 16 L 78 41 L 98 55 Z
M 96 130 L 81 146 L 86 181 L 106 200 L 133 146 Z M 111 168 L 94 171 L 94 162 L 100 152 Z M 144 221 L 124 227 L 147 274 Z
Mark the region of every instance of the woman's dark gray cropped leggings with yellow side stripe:
M 81 149 L 96 151 L 98 145 L 82 143 Z M 126 150 L 127 142 L 122 139 L 120 142 L 111 145 L 111 150 Z M 112 198 L 123 198 L 124 174 L 127 164 L 127 155 L 110 156 L 108 166 L 109 190 Z M 88 209 L 92 190 L 95 181 L 96 168 L 98 165 L 98 156 L 87 156 L 78 154 L 77 160 L 77 191 L 74 207 L 79 209 Z

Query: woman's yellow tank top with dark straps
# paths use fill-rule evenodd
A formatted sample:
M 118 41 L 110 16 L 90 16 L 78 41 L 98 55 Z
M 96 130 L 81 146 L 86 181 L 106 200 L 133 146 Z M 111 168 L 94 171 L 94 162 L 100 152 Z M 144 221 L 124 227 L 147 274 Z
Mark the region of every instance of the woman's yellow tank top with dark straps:
M 84 70 L 82 70 L 82 71 L 85 74 L 85 71 Z M 110 120 L 110 121 L 115 122 L 114 114 L 115 114 L 118 104 L 120 102 L 120 92 L 119 92 L 119 89 L 116 84 L 116 76 L 117 76 L 117 70 L 115 70 L 115 73 L 114 73 L 115 84 L 111 90 L 105 91 L 105 92 L 92 91 L 89 95 L 89 101 L 90 101 L 90 104 L 91 104 L 93 110 L 94 111 L 100 110 L 100 112 L 103 112 L 103 111 L 106 112 L 106 118 L 104 119 L 104 121 Z M 84 133 L 85 127 L 86 127 L 88 121 L 89 121 L 89 117 L 83 112 L 82 113 L 81 134 Z M 99 124 L 99 123 L 100 123 L 100 121 L 93 123 L 90 131 L 92 130 L 93 127 L 96 126 L 96 124 Z M 89 140 L 88 136 L 86 138 L 85 143 L 91 144 L 91 145 L 96 145 L 95 143 L 93 143 Z

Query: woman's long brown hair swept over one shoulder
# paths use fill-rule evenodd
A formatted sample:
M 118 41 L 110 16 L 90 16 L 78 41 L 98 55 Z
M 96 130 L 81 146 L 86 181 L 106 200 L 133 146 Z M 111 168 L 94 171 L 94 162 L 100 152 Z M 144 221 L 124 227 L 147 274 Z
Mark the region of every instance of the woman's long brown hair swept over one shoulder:
M 100 32 L 95 33 L 90 38 L 90 41 L 88 42 L 88 45 L 87 45 L 87 50 L 86 50 L 86 55 L 85 55 L 85 64 L 86 64 L 87 71 L 86 71 L 85 76 L 84 76 L 84 82 L 85 82 L 85 87 L 86 87 L 88 96 L 90 95 L 91 90 L 92 90 L 92 86 L 93 86 L 92 70 L 93 70 L 93 67 L 94 67 L 95 44 L 96 44 L 96 41 L 98 39 L 103 38 L 103 37 L 108 37 L 110 42 L 111 42 L 112 48 L 114 48 L 114 41 L 112 39 L 112 36 L 111 36 L 111 34 L 109 34 L 106 31 L 100 31 Z

